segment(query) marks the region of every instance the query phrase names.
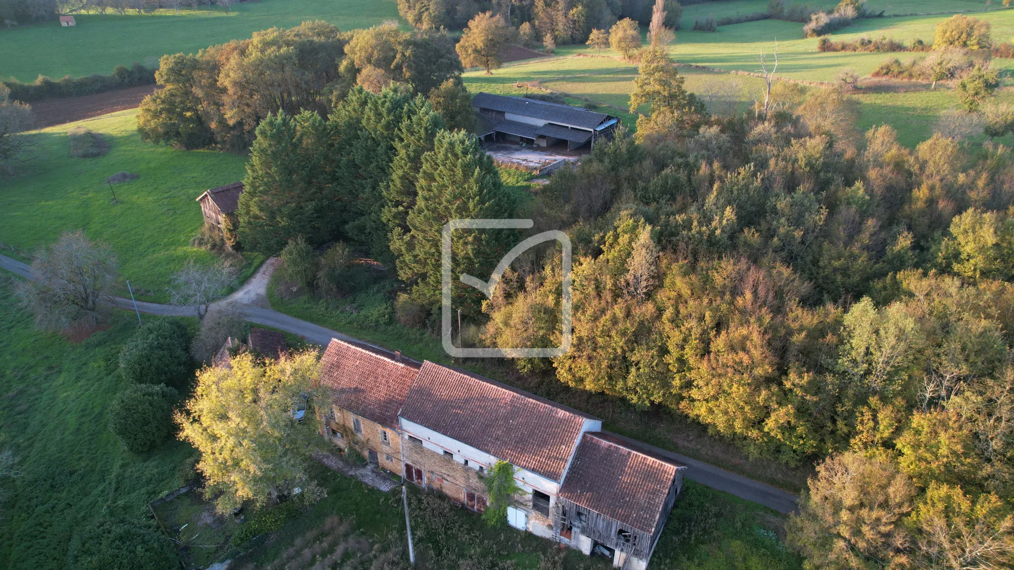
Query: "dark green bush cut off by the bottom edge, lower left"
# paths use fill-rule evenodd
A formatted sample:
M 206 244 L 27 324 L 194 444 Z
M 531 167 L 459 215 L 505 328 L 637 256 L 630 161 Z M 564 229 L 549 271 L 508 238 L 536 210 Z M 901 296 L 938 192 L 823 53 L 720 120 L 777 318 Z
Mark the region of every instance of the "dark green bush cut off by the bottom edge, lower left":
M 151 524 L 102 518 L 85 529 L 73 553 L 76 570 L 177 570 L 176 551 Z

